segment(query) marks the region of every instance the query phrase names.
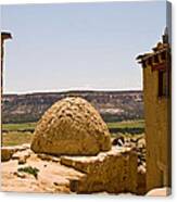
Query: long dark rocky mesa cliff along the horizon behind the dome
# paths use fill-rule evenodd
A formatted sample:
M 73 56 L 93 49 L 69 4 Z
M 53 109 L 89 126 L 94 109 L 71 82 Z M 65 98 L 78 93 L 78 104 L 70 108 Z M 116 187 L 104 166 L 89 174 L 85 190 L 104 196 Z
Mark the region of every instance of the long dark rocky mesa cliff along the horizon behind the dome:
M 142 91 L 66 91 L 4 94 L 2 122 L 36 122 L 54 102 L 66 97 L 80 97 L 91 102 L 106 122 L 143 118 Z

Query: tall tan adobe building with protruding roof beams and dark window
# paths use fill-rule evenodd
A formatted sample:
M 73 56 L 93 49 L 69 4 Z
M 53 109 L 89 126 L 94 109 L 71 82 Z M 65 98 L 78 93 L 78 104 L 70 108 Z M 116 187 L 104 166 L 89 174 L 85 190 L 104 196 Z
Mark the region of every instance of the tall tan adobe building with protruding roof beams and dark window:
M 138 55 L 143 71 L 147 191 L 170 187 L 170 47 L 167 29 L 152 52 Z

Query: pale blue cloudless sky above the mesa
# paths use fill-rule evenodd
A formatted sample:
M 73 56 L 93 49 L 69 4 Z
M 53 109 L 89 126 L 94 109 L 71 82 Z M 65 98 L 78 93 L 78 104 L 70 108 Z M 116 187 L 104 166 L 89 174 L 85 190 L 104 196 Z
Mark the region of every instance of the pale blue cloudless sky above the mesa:
M 139 53 L 161 40 L 165 1 L 2 5 L 4 92 L 142 89 Z

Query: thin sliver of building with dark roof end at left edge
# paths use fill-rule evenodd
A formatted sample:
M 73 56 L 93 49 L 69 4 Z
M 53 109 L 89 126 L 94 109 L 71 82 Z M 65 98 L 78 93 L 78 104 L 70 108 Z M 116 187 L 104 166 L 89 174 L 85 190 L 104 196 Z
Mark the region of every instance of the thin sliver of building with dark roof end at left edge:
M 7 31 L 1 33 L 1 94 L 3 90 L 3 54 L 4 54 L 4 40 L 12 39 L 12 35 Z

